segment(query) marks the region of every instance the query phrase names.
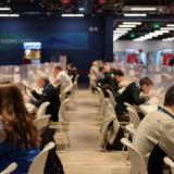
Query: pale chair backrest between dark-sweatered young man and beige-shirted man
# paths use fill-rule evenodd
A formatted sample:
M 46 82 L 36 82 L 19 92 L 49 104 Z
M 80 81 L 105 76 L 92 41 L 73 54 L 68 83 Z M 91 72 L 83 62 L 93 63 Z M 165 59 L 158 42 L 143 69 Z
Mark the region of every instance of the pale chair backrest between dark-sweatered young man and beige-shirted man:
M 137 112 L 135 112 L 133 109 L 130 109 L 128 107 L 126 109 L 128 111 L 129 122 L 134 125 L 135 129 L 137 129 L 139 123 L 140 123 L 140 120 L 139 120 Z

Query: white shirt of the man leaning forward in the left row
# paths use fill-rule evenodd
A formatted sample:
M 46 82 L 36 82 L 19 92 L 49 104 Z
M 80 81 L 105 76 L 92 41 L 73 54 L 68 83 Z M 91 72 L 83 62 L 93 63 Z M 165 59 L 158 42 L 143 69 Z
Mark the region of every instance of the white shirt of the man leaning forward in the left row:
M 62 91 L 70 91 L 71 90 L 73 83 L 72 83 L 71 77 L 64 71 L 61 71 L 57 75 L 57 80 L 58 80 L 57 85 L 61 85 Z

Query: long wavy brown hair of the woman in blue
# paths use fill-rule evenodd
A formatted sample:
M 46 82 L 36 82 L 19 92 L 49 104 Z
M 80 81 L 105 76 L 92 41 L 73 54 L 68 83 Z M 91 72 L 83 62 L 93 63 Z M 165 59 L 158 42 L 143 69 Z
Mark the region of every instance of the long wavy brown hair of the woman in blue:
M 8 142 L 23 148 L 39 146 L 40 138 L 32 115 L 20 89 L 12 83 L 0 84 L 0 115 Z

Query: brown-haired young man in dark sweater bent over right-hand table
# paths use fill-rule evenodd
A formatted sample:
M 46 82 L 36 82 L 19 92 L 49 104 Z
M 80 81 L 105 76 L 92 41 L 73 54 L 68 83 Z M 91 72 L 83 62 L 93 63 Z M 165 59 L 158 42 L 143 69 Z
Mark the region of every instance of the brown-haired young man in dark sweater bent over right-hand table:
M 115 112 L 119 120 L 122 120 L 126 113 L 125 102 L 132 105 L 139 105 L 149 100 L 150 96 L 149 91 L 152 88 L 152 82 L 149 77 L 144 77 L 139 80 L 139 83 L 130 83 L 125 90 L 119 96 L 117 104 L 115 105 Z M 140 97 L 140 91 L 142 91 L 146 97 Z

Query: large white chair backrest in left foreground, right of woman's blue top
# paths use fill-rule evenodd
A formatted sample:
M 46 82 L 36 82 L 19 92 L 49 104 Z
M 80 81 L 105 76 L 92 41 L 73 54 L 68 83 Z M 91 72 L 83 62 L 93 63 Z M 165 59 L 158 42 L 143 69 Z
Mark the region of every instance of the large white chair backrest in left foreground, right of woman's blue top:
M 49 150 L 51 150 L 55 144 L 53 141 L 47 144 L 44 150 L 32 162 L 28 174 L 44 174 L 47 157 Z

